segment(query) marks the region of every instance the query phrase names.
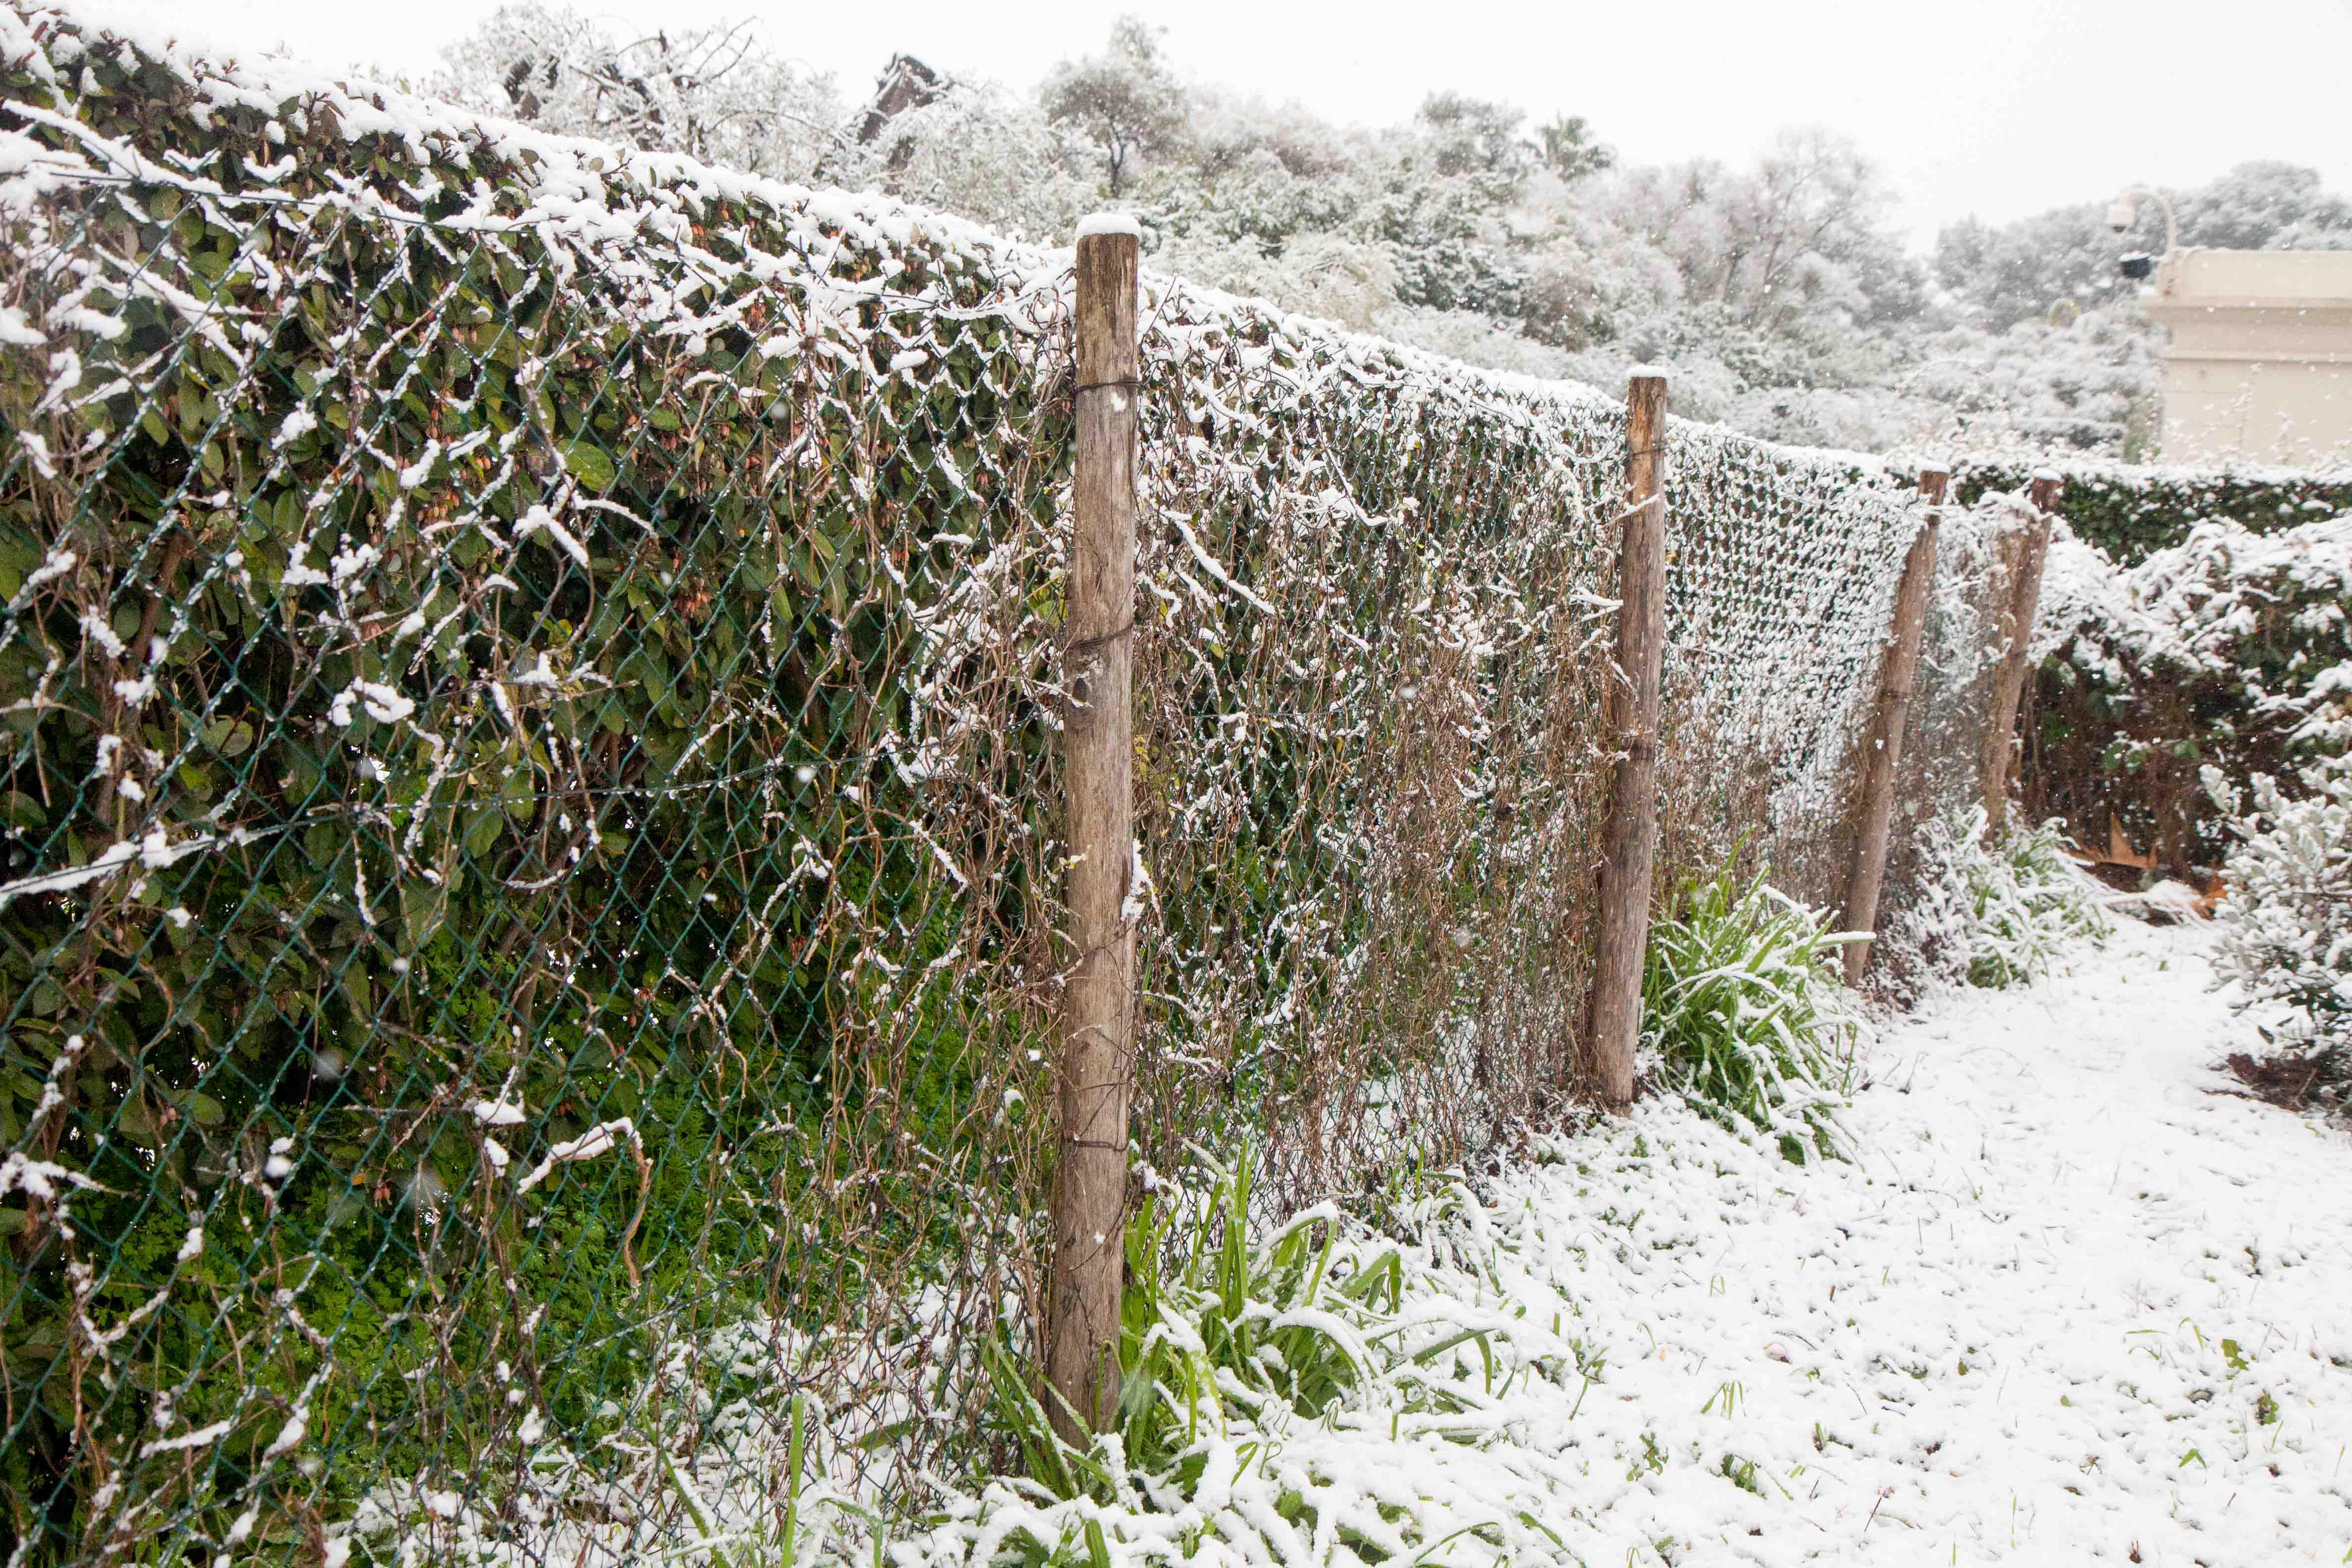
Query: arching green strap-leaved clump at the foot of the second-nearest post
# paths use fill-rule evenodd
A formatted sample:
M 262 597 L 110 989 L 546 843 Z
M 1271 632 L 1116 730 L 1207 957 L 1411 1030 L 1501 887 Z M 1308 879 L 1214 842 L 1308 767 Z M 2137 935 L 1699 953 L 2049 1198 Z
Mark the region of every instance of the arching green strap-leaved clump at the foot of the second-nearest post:
M 1842 1154 L 1860 1020 L 1828 917 L 1729 867 L 1682 886 L 1649 936 L 1642 1044 L 1658 1081 L 1733 1131 L 1778 1138 L 1804 1164 Z

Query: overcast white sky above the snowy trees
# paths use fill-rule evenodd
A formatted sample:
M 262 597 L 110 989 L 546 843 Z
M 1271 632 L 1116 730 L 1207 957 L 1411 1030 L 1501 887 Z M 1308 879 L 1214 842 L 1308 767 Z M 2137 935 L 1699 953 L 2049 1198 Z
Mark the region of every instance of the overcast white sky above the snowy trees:
M 1098 49 L 1120 9 L 1160 24 L 1195 78 L 1388 122 L 1442 87 L 1536 120 L 1573 113 L 1637 162 L 1745 160 L 1783 125 L 1830 125 L 1879 160 L 1924 247 L 1962 214 L 2013 219 L 2119 186 L 2199 183 L 2246 158 L 2314 165 L 2352 193 L 2352 0 L 576 0 L 616 26 L 757 16 L 863 94 L 891 52 L 1035 82 Z M 118 0 L 158 9 L 167 0 Z M 318 63 L 430 71 L 477 0 L 176 0 L 207 40 Z

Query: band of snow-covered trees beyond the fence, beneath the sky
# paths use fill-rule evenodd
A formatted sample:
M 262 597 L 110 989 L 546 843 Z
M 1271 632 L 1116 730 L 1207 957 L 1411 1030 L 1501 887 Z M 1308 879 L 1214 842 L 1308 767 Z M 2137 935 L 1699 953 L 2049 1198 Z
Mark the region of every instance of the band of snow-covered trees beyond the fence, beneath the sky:
M 783 179 L 882 188 L 1063 242 L 1105 200 L 1145 266 L 1477 364 L 1618 386 L 1677 367 L 1675 407 L 1773 440 L 1945 454 L 2138 454 L 2161 334 L 2117 270 L 2105 190 L 1915 256 L 1877 165 L 1783 132 L 1748 165 L 1625 167 L 1578 115 L 1432 92 L 1399 125 L 1185 82 L 1134 16 L 1037 92 L 901 54 L 863 106 L 753 26 L 621 38 L 529 0 L 433 89 L 555 132 Z M 2291 162 L 2171 193 L 2183 244 L 2352 247 L 2352 202 Z M 2053 310 L 2056 306 L 2056 310 Z

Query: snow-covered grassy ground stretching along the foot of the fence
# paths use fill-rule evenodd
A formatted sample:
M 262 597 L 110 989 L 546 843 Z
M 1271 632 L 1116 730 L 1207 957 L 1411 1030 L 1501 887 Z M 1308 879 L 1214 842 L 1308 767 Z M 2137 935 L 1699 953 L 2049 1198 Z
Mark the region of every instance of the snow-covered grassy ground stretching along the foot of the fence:
M 2211 940 L 2131 924 L 1891 1025 L 1856 1164 L 1646 1100 L 1404 1204 L 1402 1288 L 1331 1300 L 1364 1375 L 1319 1420 L 1223 1378 L 1188 1462 L 948 1486 L 882 1559 L 2345 1561 L 2352 1140 L 2230 1093 Z M 1336 1272 L 1397 1246 L 1343 1222 Z M 746 1530 L 762 1462 L 703 1453 L 687 1540 L 628 1544 L 814 1561 Z M 826 1549 L 877 1561 L 854 1523 Z

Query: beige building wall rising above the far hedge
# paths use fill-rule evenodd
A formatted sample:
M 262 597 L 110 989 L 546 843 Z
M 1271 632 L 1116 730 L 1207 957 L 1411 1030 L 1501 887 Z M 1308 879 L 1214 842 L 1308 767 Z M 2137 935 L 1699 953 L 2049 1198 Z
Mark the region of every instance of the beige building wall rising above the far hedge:
M 2166 463 L 2352 463 L 2352 252 L 2176 252 L 2140 296 L 2171 329 Z

